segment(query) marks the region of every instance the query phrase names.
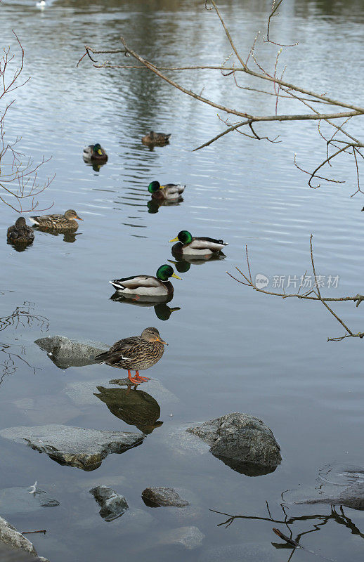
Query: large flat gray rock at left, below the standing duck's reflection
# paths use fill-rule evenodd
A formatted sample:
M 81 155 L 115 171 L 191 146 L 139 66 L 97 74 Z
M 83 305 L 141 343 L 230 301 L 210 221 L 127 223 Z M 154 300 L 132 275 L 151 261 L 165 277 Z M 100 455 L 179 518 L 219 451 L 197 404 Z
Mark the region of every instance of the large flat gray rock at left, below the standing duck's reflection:
M 141 445 L 142 433 L 100 431 L 63 425 L 9 427 L 0 436 L 15 443 L 27 443 L 32 449 L 45 452 L 59 464 L 95 470 L 109 453 L 122 453 Z

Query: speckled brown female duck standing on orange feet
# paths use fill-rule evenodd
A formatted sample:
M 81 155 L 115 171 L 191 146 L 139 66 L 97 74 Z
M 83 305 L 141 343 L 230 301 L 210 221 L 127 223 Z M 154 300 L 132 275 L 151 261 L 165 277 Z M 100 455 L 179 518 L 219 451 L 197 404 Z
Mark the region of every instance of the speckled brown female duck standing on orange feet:
M 95 360 L 127 370 L 129 381 L 141 384 L 150 379 L 141 377 L 139 371 L 155 365 L 162 357 L 166 345 L 167 341 L 160 339 L 157 328 L 145 328 L 141 336 L 119 339 L 109 351 L 96 355 Z M 135 371 L 135 377 L 131 377 L 131 370 Z

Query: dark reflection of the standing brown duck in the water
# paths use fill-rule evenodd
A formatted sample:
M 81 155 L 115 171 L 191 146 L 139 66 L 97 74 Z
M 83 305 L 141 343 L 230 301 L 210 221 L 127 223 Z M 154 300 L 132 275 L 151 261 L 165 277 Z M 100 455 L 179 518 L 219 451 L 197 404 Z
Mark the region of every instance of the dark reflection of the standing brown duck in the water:
M 128 381 L 129 382 L 129 381 Z M 160 427 L 160 405 L 157 400 L 145 391 L 128 388 L 97 387 L 97 398 L 104 402 L 112 414 L 125 421 L 129 426 L 136 426 L 139 431 L 148 435 Z

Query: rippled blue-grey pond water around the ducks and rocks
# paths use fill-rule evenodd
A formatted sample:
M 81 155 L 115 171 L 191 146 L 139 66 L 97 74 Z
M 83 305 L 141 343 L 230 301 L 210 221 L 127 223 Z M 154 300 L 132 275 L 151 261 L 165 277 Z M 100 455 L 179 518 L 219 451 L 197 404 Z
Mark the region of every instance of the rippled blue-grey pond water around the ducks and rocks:
M 355 166 L 349 157 L 337 159 L 332 177 L 345 183 L 308 188 L 307 176 L 294 167 L 294 152 L 306 169 L 325 158 L 325 143 L 309 122 L 256 127 L 262 136 L 280 134 L 281 143 L 231 133 L 193 152 L 223 130 L 212 107 L 146 71 L 96 70 L 86 59 L 76 67 L 84 44 L 117 48 L 120 35 L 164 65 L 221 63 L 230 49 L 216 15 L 205 11 L 202 1 L 56 0 L 44 11 L 34 4 L 3 0 L 0 6 L 1 46 L 11 44 L 16 51 L 15 30 L 25 48 L 24 74 L 32 76 L 14 93 L 6 135 L 8 140 L 22 136 L 21 151 L 36 161 L 52 157 L 40 178 L 56 178 L 39 196 L 39 207 L 54 202 L 52 212 L 73 208 L 84 222 L 72 243 L 63 235 L 36 233 L 32 246 L 18 252 L 5 235 L 16 214 L 1 206 L 1 317 L 22 313 L 20 322 L 15 315 L 1 325 L 0 429 L 53 423 L 137 431 L 94 396 L 98 386 L 117 388 L 108 381 L 124 372 L 106 365 L 58 368 L 34 344 L 49 335 L 112 344 L 155 326 L 169 346 L 148 374 L 170 394 L 153 397 L 163 424 L 141 446 L 109 455 L 96 471 L 60 466 L 1 438 L 1 488 L 27 488 L 37 481 L 60 502 L 32 513 L 14 502 L 6 518 L 19 530 L 46 529 L 46 535 L 28 536 L 51 562 L 116 556 L 141 562 L 171 556 L 285 562 L 291 549 L 280 548 L 272 532 L 279 526 L 289 534 L 276 522 L 284 519 L 282 492 L 312 493 L 320 485 L 320 469 L 332 463 L 363 466 L 363 342 L 327 342 L 344 329 L 320 303 L 253 292 L 226 271 L 247 269 L 247 244 L 254 275 L 272 281 L 273 275 L 287 280 L 310 273 L 312 233 L 317 273 L 339 276 L 337 288 L 323 290 L 330 296 L 363 292 L 363 198 L 350 197 L 356 190 Z M 266 28 L 268 1 L 219 6 L 247 53 L 256 32 Z M 299 41 L 282 54 L 285 78 L 363 103 L 358 72 L 363 22 L 361 2 L 287 0 L 273 28 L 275 40 Z M 260 44 L 260 60 L 271 68 L 277 49 Z M 261 115 L 274 112 L 274 98 L 237 89 L 218 72 L 183 74 L 181 80 L 197 92 L 204 88 L 204 95 L 219 103 L 254 107 Z M 250 79 L 245 85 L 254 87 Z M 354 134 L 358 128 L 359 123 L 351 125 Z M 150 129 L 171 132 L 170 144 L 155 150 L 143 146 L 141 136 Z M 82 160 L 82 148 L 94 142 L 109 155 L 100 171 Z M 150 212 L 152 180 L 186 183 L 183 202 Z M 192 264 L 181 281 L 174 280 L 169 306 L 180 309 L 157 315 L 153 307 L 112 301 L 108 281 L 154 275 L 173 259 L 168 240 L 181 229 L 229 245 L 225 259 Z M 362 306 L 337 303 L 334 309 L 353 331 L 363 331 Z M 143 390 L 148 392 L 146 385 Z M 170 438 L 178 428 L 228 412 L 252 414 L 272 429 L 282 449 L 275 471 L 245 476 L 209 453 L 186 452 Z M 110 485 L 141 511 L 106 522 L 89 494 L 96 484 Z M 188 490 L 193 508 L 183 515 L 146 507 L 141 492 L 150 485 Z M 210 509 L 263 519 L 238 518 L 225 528 L 217 525 L 226 516 Z M 364 532 L 363 512 L 344 508 L 344 519 L 333 517 L 327 505 L 291 504 L 287 514 L 294 537 L 308 533 L 301 542 L 309 549 L 338 561 L 363 559 L 363 535 L 347 523 Z M 204 534 L 200 547 L 163 544 L 169 530 L 190 525 Z M 229 545 L 238 545 L 230 555 L 221 551 Z M 297 562 L 310 558 L 304 550 L 294 553 Z

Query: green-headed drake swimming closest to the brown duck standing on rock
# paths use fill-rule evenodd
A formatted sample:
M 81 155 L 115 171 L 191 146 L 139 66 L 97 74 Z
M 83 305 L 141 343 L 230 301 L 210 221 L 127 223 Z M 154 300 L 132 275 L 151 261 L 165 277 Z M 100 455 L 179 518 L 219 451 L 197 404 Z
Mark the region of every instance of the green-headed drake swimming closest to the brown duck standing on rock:
M 171 266 L 164 263 L 157 269 L 156 277 L 152 275 L 132 275 L 122 279 L 110 281 L 112 287 L 126 298 L 138 298 L 138 296 L 149 296 L 150 300 L 155 296 L 172 296 L 173 285 L 168 280 L 169 277 L 178 277 Z

